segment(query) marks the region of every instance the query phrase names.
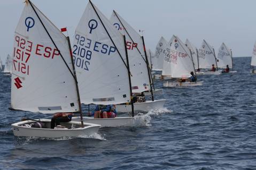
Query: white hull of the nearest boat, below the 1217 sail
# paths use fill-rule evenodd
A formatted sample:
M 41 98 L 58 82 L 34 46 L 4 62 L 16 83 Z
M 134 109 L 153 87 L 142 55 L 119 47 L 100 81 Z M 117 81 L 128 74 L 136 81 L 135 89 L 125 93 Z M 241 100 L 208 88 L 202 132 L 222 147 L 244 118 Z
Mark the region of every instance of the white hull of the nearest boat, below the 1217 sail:
M 75 137 L 75 136 L 90 136 L 94 133 L 98 133 L 100 125 L 84 123 L 84 127 L 81 127 L 81 122 L 67 122 L 60 123 L 60 125 L 69 128 L 50 128 L 50 119 L 41 119 L 41 122 L 47 124 L 47 128 L 34 128 L 21 126 L 25 124 L 35 123 L 34 120 L 25 120 L 22 122 L 12 124 L 14 136 L 27 136 L 27 137 L 49 137 L 49 138 L 59 138 L 59 137 Z

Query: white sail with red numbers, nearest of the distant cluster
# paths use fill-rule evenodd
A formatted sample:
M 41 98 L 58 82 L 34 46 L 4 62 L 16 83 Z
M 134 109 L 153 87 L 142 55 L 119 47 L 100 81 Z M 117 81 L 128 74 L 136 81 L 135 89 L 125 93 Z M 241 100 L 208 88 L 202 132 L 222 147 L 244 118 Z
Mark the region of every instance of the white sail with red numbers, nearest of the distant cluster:
M 173 36 L 172 39 L 170 55 L 166 58 L 166 63 L 170 64 L 170 76 L 173 78 L 190 77 L 190 72 L 195 72 L 195 70 L 189 48 L 177 36 Z

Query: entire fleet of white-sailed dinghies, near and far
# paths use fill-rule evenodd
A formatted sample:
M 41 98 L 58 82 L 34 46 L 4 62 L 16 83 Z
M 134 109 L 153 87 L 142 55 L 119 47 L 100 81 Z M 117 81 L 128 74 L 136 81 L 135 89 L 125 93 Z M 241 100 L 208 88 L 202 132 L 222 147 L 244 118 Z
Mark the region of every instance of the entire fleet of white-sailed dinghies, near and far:
M 195 75 L 220 75 L 233 68 L 232 51 L 222 43 L 218 55 L 203 40 L 197 49 L 188 39 L 175 35 L 167 42 L 161 37 L 156 52 L 145 48 L 144 37 L 116 11 L 108 19 L 91 2 L 76 26 L 73 43 L 30 0 L 25 1 L 14 34 L 13 55 L 7 56 L 4 70 L 11 75 L 11 110 L 38 114 L 78 114 L 61 127 L 50 128 L 51 119 L 27 119 L 12 124 L 15 136 L 90 136 L 100 127 L 145 125 L 137 112 L 164 108 L 156 100 L 163 87 L 201 86 L 203 82 L 183 81 Z M 256 66 L 254 45 L 252 66 Z M 216 71 L 209 71 L 212 64 Z M 162 71 L 156 74 L 156 71 Z M 231 71 L 230 71 L 231 72 Z M 235 72 L 235 71 L 233 71 Z M 256 71 L 252 71 L 256 72 Z M 145 95 L 143 102 L 133 99 Z M 81 104 L 114 104 L 126 116 L 94 118 L 83 114 Z

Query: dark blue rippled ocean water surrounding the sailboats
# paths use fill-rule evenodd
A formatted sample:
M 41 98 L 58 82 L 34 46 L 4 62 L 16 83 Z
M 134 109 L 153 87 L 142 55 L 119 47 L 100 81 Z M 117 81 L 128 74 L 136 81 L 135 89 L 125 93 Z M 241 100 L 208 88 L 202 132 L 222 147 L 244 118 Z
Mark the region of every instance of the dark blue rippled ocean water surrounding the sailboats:
M 102 128 L 92 138 L 14 137 L 10 77 L 0 73 L 0 169 L 256 169 L 256 75 L 251 58 L 236 74 L 199 76 L 201 87 L 164 88 L 149 126 Z M 155 82 L 161 88 L 160 80 Z M 44 116 L 44 115 L 39 115 Z

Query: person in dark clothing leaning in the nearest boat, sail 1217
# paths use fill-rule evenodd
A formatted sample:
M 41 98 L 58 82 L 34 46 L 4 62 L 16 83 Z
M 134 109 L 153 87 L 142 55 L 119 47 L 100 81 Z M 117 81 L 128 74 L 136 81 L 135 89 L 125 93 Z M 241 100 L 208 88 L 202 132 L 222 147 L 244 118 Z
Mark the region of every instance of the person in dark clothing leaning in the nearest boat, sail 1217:
M 56 113 L 51 118 L 51 128 L 55 128 L 60 125 L 60 123 L 70 122 L 72 119 L 73 113 Z

